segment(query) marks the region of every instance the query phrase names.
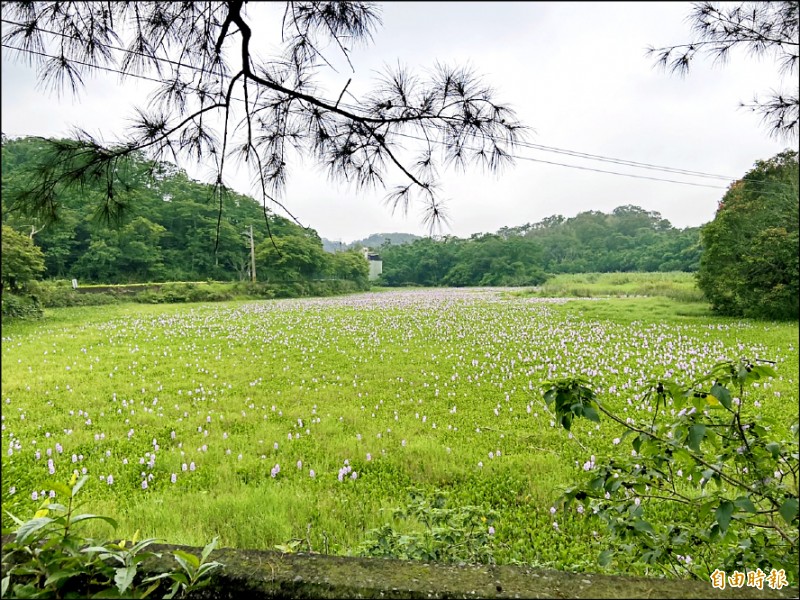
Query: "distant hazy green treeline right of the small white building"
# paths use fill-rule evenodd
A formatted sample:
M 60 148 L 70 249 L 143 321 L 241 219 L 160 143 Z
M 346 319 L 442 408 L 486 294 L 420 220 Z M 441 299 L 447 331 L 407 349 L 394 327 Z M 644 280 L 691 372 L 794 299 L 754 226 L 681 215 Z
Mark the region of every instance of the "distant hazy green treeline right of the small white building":
M 468 239 L 385 244 L 386 285 L 538 285 L 554 273 L 696 271 L 700 228 L 676 229 L 657 212 L 621 206 L 611 214 L 557 215 Z

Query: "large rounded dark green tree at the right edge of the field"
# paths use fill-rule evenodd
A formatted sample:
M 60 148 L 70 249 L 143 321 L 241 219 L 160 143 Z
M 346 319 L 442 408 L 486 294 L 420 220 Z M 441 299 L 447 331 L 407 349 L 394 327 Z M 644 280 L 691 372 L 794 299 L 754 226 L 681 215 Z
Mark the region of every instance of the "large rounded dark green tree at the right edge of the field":
M 735 182 L 703 227 L 698 286 L 723 315 L 800 315 L 797 152 L 787 150 Z

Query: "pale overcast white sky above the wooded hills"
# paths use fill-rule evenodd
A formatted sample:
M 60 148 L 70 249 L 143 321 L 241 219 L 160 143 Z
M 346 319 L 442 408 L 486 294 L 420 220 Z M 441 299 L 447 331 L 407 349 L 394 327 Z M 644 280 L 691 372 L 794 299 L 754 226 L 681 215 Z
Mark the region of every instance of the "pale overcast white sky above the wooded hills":
M 398 60 L 418 70 L 436 60 L 469 63 L 533 129 L 531 143 L 735 179 L 788 145 L 770 139 L 759 117 L 738 107 L 757 92 L 778 87 L 780 77 L 772 61 L 744 52 L 734 53 L 725 66 L 697 62 L 685 78 L 654 68 L 645 49 L 689 41 L 690 9 L 684 2 L 386 3 L 373 45 L 352 54 L 355 75 L 346 68 L 330 74 L 326 96 L 337 97 L 349 77 L 348 89 L 358 95 L 369 89 L 375 70 Z M 247 10 L 256 39 L 277 31 L 282 4 L 251 3 Z M 2 131 L 65 137 L 80 126 L 113 139 L 123 131 L 132 104 L 144 104 L 147 91 L 146 82 L 123 85 L 115 75 L 98 74 L 77 100 L 59 99 L 41 92 L 33 69 L 10 60 L 4 48 Z M 658 211 L 676 227 L 697 226 L 713 219 L 727 185 L 532 148 L 517 154 L 723 189 L 518 160 L 500 175 L 443 174 L 441 197 L 450 216 L 446 233 L 463 237 L 624 204 Z M 207 167 L 181 166 L 195 177 L 208 176 Z M 392 215 L 383 204 L 383 190 L 337 187 L 308 163 L 291 173 L 283 200 L 323 237 L 349 242 L 379 232 L 426 233 L 414 207 L 407 216 Z M 253 194 L 250 181 L 245 171 L 228 173 L 227 183 L 239 192 Z M 403 182 L 390 178 L 388 183 Z

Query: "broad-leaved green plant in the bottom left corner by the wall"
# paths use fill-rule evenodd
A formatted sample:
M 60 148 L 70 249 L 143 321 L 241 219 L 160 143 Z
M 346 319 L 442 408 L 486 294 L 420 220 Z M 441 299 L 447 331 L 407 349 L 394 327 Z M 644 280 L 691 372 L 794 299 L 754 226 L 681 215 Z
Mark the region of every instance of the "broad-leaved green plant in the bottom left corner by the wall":
M 6 511 L 17 527 L 3 531 L 14 534 L 13 541 L 3 545 L 3 597 L 146 598 L 153 594 L 183 598 L 208 585 L 208 576 L 222 567 L 218 562 L 207 561 L 216 546 L 215 539 L 199 558 L 176 550 L 173 557 L 177 569 L 146 576 L 140 568 L 142 562 L 161 557 L 148 550 L 155 539 L 138 540 L 137 532 L 128 546 L 125 540 L 97 541 L 76 533 L 77 526 L 88 521 L 104 521 L 117 527 L 110 517 L 76 514 L 75 498 L 88 479 L 73 475 L 71 487 L 54 484 L 58 496 L 66 499 L 66 506 L 46 499 L 28 521 Z

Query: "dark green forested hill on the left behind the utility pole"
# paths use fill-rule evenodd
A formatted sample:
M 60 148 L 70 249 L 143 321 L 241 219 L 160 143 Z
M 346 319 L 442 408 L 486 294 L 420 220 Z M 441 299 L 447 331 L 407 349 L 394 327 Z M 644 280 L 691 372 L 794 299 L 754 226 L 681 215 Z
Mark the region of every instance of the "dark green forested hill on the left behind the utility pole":
M 141 156 L 126 163 L 126 185 L 115 196 L 125 206 L 120 223 L 112 227 L 98 218 L 105 191 L 99 182 L 59 189 L 59 220 L 41 228 L 41 221 L 9 208 L 19 190 L 30 187 L 32 167 L 50 151 L 40 138 L 3 140 L 3 225 L 25 235 L 36 231 L 33 240 L 44 252 L 48 278 L 99 283 L 245 279 L 251 226 L 260 281 L 366 277 L 367 266 L 357 253 L 333 257 L 322 250 L 316 231 L 270 213 L 273 244 L 262 206 L 233 191 L 223 196 L 215 252 L 219 200 L 213 187 L 174 165 Z

